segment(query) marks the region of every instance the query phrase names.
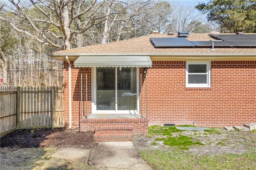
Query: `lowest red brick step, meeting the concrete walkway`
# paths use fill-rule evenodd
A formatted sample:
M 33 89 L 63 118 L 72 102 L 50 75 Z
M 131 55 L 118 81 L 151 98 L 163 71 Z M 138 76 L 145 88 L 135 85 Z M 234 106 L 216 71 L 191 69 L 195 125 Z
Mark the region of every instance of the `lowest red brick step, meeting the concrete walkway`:
M 132 140 L 132 132 L 96 132 L 94 140 L 96 141 L 129 141 Z

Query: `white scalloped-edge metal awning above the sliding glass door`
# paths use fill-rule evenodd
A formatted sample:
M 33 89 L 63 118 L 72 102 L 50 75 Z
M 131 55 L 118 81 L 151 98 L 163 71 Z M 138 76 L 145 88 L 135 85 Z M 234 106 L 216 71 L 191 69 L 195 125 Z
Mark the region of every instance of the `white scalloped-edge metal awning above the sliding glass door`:
M 75 67 L 152 67 L 149 56 L 79 56 Z

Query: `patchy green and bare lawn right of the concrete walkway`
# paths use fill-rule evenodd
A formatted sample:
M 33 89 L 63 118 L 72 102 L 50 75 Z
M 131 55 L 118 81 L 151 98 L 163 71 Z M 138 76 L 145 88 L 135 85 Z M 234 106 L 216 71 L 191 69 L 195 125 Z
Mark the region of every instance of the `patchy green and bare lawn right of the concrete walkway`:
M 156 170 L 254 170 L 256 167 L 255 130 L 184 131 L 152 126 L 148 135 L 134 138 L 134 145 Z

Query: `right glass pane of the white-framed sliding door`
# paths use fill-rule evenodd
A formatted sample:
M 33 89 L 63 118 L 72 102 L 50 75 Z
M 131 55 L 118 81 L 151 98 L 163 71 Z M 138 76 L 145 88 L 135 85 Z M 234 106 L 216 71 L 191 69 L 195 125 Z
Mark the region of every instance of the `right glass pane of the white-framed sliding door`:
M 117 69 L 117 110 L 137 109 L 136 68 Z

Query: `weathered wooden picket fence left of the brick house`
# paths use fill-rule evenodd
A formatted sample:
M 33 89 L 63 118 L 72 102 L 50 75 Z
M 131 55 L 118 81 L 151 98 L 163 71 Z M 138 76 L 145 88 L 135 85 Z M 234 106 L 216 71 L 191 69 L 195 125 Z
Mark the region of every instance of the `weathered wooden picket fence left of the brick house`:
M 1 135 L 17 129 L 64 127 L 58 87 L 0 87 Z

